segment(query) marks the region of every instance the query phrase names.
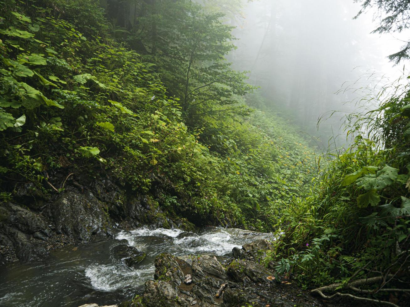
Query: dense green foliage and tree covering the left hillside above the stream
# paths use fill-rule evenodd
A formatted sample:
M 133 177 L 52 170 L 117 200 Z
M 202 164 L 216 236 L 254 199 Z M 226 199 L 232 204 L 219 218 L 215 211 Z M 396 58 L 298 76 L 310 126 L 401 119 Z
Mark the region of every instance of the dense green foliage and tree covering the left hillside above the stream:
M 233 37 L 221 14 L 158 1 L 132 34 L 111 36 L 92 0 L 27 3 L 0 9 L 6 193 L 27 181 L 50 192 L 46 172 L 105 172 L 138 193 L 167 186 L 157 201 L 191 222 L 267 230 L 307 190 L 312 149 L 289 122 L 251 114 L 251 87 L 223 59 Z

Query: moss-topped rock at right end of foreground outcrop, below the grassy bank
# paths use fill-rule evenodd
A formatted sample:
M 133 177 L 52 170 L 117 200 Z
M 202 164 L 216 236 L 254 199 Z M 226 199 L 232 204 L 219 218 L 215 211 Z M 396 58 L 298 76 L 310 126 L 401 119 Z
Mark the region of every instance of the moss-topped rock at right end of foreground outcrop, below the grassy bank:
M 268 282 L 270 272 L 260 264 L 249 260 L 233 260 L 228 266 L 228 275 L 237 282 Z

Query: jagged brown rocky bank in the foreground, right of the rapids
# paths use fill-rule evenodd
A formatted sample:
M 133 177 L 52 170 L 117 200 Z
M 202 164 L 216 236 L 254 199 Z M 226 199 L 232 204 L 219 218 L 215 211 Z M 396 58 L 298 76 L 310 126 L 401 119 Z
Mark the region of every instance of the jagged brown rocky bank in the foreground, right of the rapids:
M 155 259 L 154 280 L 145 283 L 144 293 L 131 301 L 104 307 L 302 307 L 353 306 L 342 300 L 324 302 L 289 280 L 276 280 L 271 269 L 262 266 L 263 252 L 271 247 L 265 239 L 234 248 L 231 257 L 173 256 Z M 270 264 L 272 266 L 273 264 Z M 98 307 L 85 304 L 80 307 Z

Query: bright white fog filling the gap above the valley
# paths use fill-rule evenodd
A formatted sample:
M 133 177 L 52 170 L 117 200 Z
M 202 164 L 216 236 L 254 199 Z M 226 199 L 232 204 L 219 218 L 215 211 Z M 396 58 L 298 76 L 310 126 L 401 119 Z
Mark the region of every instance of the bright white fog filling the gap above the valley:
M 397 52 L 405 33 L 371 34 L 377 23 L 368 12 L 353 20 L 353 0 L 255 0 L 242 2 L 241 14 L 228 12 L 236 26 L 234 67 L 248 70 L 249 82 L 266 104 L 291 117 L 301 131 L 325 145 L 341 132 L 343 115 L 357 108 L 358 97 L 403 75 L 386 58 Z M 257 99 L 254 99 L 258 106 Z M 350 103 L 349 103 L 350 102 Z M 340 111 L 328 118 L 332 111 Z M 323 121 L 317 131 L 317 120 Z M 339 142 L 346 140 L 339 138 Z M 316 142 L 316 141 L 315 141 Z

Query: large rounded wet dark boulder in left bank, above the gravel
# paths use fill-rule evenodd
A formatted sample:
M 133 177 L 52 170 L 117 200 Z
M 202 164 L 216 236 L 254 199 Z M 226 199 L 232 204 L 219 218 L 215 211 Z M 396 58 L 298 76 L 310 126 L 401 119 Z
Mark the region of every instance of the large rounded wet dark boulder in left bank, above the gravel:
M 111 227 L 105 205 L 89 191 L 67 191 L 50 204 L 49 214 L 57 233 L 87 241 L 96 233 L 107 233 Z

